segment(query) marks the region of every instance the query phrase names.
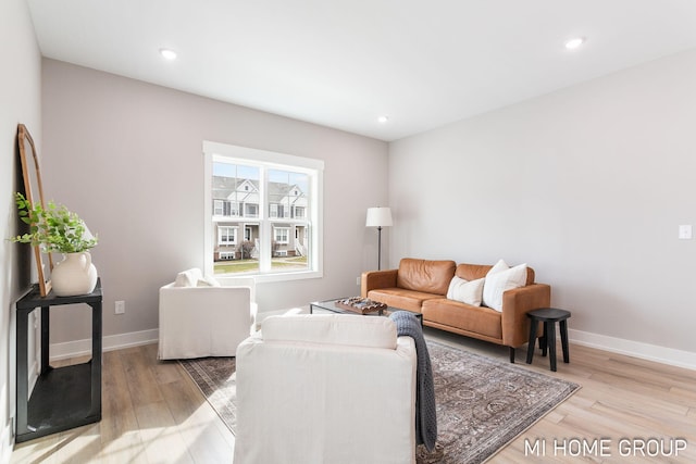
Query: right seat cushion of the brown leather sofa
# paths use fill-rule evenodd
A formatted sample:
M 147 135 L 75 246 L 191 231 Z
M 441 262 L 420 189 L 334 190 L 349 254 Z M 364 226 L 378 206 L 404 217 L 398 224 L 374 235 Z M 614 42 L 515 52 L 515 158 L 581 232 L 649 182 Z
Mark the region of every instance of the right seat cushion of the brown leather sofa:
M 433 299 L 423 303 L 423 319 L 502 339 L 502 316 L 490 308 L 472 306 L 447 299 Z

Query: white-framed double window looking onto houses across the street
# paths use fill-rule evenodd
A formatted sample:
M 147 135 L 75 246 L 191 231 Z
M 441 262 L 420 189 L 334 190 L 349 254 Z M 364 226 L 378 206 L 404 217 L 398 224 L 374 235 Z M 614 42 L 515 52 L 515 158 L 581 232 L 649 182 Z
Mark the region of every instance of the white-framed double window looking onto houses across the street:
M 323 162 L 203 142 L 207 272 L 321 277 Z

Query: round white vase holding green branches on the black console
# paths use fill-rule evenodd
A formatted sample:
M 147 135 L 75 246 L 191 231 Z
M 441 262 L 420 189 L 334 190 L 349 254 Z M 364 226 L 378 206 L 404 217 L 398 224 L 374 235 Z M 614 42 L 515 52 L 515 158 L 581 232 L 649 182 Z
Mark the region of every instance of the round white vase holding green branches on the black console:
M 97 286 L 97 267 L 88 251 L 65 253 L 65 259 L 53 266 L 51 286 L 57 297 L 87 294 Z

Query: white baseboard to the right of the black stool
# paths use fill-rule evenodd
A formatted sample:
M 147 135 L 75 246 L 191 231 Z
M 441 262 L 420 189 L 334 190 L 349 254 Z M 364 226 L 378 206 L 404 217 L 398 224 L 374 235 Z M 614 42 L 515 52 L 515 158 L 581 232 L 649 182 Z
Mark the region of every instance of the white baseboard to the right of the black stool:
M 696 371 L 695 352 L 573 329 L 568 329 L 568 338 L 573 343 L 584 347 L 597 348 L 612 353 L 625 354 L 627 356 Z

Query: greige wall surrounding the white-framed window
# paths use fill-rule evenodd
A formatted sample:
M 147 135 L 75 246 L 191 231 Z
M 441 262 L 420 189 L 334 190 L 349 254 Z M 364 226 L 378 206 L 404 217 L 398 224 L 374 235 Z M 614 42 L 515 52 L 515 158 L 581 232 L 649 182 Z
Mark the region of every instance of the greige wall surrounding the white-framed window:
M 325 162 L 324 278 L 259 285 L 260 311 L 359 294 L 376 265 L 364 221 L 386 203 L 385 142 L 53 60 L 42 86 L 46 197 L 99 234 L 105 336 L 156 329 L 160 286 L 203 265 L 203 140 Z M 89 337 L 86 309 L 51 317 L 53 343 Z

